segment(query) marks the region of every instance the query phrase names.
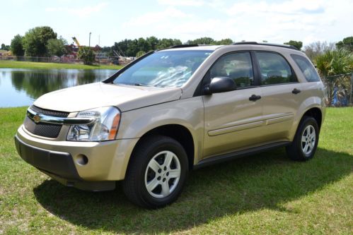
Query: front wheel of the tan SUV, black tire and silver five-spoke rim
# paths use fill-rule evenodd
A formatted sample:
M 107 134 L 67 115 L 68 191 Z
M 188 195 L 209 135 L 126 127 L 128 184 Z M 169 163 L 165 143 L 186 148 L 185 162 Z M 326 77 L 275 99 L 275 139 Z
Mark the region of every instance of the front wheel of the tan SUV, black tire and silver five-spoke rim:
M 183 190 L 188 174 L 187 154 L 180 143 L 152 135 L 137 145 L 122 187 L 134 204 L 149 209 L 173 203 Z

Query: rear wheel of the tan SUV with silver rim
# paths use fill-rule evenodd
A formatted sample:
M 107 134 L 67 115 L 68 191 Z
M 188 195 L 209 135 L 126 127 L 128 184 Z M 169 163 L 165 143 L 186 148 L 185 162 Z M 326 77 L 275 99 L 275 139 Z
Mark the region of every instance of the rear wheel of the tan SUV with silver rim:
M 303 116 L 291 145 L 286 147 L 289 158 L 295 161 L 307 161 L 315 155 L 318 147 L 318 122 L 312 116 Z

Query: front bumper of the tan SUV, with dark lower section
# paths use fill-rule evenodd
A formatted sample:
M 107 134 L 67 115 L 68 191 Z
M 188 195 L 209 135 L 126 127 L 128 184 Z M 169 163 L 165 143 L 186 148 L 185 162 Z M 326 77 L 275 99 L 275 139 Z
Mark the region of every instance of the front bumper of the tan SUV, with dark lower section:
M 24 126 L 18 128 L 15 136 L 18 154 L 25 162 L 66 186 L 93 191 L 113 189 L 115 181 L 125 178 L 137 140 L 58 141 L 33 135 Z M 86 164 L 77 160 L 80 155 L 87 157 Z

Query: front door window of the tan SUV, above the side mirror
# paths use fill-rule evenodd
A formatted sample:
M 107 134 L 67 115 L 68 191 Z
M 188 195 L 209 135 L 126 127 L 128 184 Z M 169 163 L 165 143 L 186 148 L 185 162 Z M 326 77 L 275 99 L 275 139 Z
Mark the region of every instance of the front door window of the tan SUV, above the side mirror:
M 250 52 L 237 52 L 221 56 L 209 71 L 211 79 L 229 77 L 238 88 L 254 85 L 253 64 Z

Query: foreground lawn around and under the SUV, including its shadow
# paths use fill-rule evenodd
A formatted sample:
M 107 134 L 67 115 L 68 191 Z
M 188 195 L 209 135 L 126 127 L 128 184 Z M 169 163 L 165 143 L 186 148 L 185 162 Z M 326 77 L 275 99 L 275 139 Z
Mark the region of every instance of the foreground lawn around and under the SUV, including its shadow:
M 18 157 L 25 108 L 0 109 L 0 234 L 352 234 L 353 108 L 327 109 L 316 156 L 273 150 L 193 171 L 176 203 L 66 188 Z

